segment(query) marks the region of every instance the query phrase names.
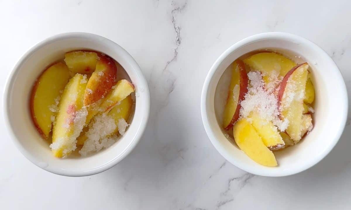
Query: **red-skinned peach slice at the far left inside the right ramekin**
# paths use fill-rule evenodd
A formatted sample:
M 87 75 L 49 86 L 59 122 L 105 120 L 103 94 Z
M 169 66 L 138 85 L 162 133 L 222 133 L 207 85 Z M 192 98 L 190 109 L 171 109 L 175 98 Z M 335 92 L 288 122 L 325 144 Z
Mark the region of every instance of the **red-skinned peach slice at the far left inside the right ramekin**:
M 224 108 L 223 127 L 229 130 L 239 118 L 240 102 L 247 93 L 249 79 L 243 61 L 233 63 L 232 78 L 229 86 L 227 103 Z

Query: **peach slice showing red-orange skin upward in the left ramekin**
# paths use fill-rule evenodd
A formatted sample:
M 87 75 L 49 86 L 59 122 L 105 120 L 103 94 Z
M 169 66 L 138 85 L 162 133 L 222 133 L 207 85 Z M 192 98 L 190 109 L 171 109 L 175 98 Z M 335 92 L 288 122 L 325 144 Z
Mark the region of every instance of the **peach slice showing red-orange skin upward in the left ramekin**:
M 105 97 L 116 84 L 116 75 L 117 67 L 113 59 L 107 55 L 101 56 L 85 89 L 84 106 L 89 106 Z

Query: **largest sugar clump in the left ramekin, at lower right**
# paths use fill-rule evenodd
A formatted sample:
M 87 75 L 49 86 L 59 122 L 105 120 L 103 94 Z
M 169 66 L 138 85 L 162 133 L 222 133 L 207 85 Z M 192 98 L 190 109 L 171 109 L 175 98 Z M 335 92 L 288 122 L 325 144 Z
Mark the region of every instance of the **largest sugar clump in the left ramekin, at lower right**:
M 86 156 L 92 152 L 98 152 L 102 148 L 110 147 L 117 140 L 116 135 L 109 137 L 116 128 L 114 119 L 106 113 L 95 116 L 85 134 L 87 139 L 79 153 Z

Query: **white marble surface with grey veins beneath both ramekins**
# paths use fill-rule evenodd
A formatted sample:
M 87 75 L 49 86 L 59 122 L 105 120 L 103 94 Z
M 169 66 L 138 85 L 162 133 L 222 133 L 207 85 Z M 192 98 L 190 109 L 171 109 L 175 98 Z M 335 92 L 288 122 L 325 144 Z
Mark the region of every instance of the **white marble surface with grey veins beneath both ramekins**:
M 335 60 L 350 91 L 350 8 L 349 0 L 1 1 L 1 90 L 34 44 L 86 31 L 119 43 L 136 59 L 150 86 L 151 117 L 126 159 L 90 177 L 64 177 L 34 166 L 9 139 L 2 117 L 0 208 L 349 209 L 350 114 L 339 143 L 316 166 L 289 177 L 259 177 L 226 162 L 211 145 L 200 92 L 225 49 L 267 31 L 317 43 Z

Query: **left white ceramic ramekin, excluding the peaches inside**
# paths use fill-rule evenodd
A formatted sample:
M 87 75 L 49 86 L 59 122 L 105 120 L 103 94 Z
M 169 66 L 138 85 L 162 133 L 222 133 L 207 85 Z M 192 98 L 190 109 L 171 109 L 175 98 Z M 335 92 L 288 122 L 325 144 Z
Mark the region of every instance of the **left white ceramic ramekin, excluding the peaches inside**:
M 50 63 L 75 49 L 91 49 L 118 61 L 135 85 L 135 113 L 126 134 L 114 145 L 86 158 L 55 158 L 31 120 L 29 96 L 35 79 Z M 8 77 L 4 93 L 5 122 L 15 145 L 35 165 L 55 174 L 86 176 L 111 168 L 138 144 L 150 113 L 150 94 L 139 65 L 120 45 L 89 33 L 64 33 L 47 38 L 22 56 Z

